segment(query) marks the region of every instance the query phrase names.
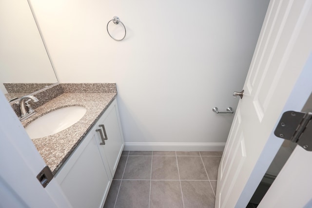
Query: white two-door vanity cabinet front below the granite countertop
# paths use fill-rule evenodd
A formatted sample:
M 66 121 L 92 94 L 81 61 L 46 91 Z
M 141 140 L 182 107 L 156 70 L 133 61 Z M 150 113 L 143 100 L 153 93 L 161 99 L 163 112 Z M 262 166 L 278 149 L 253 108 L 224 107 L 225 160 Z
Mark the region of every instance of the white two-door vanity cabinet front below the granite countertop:
M 100 145 L 103 129 L 108 139 Z M 123 147 L 115 99 L 55 175 L 74 208 L 104 206 Z

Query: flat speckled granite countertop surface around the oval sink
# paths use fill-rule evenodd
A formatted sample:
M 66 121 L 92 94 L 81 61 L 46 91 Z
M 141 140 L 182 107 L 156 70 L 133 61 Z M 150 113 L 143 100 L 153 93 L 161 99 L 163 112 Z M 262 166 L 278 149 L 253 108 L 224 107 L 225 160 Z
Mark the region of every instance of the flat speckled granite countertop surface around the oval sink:
M 87 109 L 85 115 L 71 127 L 50 136 L 32 139 L 54 175 L 116 95 L 117 93 L 63 93 L 36 108 L 37 113 L 22 122 L 22 125 L 26 127 L 43 114 L 66 106 L 76 105 Z

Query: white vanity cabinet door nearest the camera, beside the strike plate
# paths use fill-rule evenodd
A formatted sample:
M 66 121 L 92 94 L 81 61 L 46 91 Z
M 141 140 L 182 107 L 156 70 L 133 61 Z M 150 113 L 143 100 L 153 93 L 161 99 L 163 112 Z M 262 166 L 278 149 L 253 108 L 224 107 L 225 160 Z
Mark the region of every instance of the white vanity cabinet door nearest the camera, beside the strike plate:
M 96 133 L 88 134 L 56 176 L 74 208 L 104 206 L 112 177 L 106 172 Z

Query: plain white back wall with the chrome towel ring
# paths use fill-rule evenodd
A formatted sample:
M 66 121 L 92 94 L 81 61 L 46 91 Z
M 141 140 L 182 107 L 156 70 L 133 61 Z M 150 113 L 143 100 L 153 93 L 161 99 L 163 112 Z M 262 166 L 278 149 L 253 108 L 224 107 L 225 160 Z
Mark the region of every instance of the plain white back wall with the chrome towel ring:
M 117 83 L 126 142 L 226 142 L 233 115 L 212 108 L 236 108 L 269 0 L 31 3 L 60 82 Z

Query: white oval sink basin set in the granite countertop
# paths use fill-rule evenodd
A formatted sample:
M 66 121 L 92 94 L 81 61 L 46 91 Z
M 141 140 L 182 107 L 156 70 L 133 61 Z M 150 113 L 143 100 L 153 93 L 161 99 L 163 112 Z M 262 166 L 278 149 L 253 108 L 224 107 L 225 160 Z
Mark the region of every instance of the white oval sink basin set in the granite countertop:
M 86 111 L 82 106 L 60 108 L 32 121 L 25 130 L 31 139 L 49 136 L 77 123 Z

